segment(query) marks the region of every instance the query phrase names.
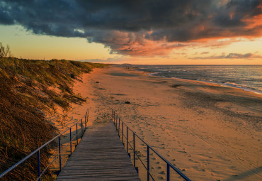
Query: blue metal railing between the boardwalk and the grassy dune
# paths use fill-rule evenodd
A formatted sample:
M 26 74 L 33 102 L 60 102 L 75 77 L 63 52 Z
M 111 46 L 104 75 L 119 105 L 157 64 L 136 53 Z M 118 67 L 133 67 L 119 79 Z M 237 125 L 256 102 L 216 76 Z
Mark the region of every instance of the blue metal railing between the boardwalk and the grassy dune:
M 86 113 L 84 114 L 84 116 L 79 119 L 79 121 L 70 126 L 69 128 L 67 128 L 65 131 L 63 131 L 62 133 L 59 133 L 59 135 L 55 136 L 55 138 L 52 138 L 52 140 L 48 141 L 47 143 L 45 143 L 44 145 L 40 146 L 39 148 L 37 148 L 36 150 L 34 150 L 32 153 L 30 153 L 29 155 L 27 155 L 25 158 L 23 158 L 22 160 L 20 160 L 18 163 L 16 163 L 15 165 L 13 165 L 11 168 L 8 168 L 6 171 L 2 172 L 0 174 L 0 178 L 3 178 L 4 176 L 6 176 L 9 172 L 11 172 L 12 170 L 18 168 L 19 165 L 21 165 L 22 163 L 24 163 L 26 160 L 28 160 L 29 158 L 32 158 L 33 155 L 37 154 L 37 160 L 38 160 L 38 168 L 37 168 L 37 172 L 38 172 L 38 177 L 35 178 L 35 180 L 41 180 L 42 175 L 47 171 L 48 168 L 50 168 L 50 166 L 55 163 L 55 160 L 58 159 L 58 164 L 59 164 L 59 168 L 57 170 L 57 175 L 59 175 L 59 172 L 61 172 L 62 170 L 62 155 L 68 155 L 67 159 L 72 155 L 73 153 L 73 149 L 76 148 L 76 146 L 79 144 L 79 141 L 81 140 L 84 131 L 86 130 L 86 124 L 88 123 L 89 119 L 89 109 L 86 110 Z M 81 126 L 80 128 L 78 126 Z M 75 129 L 74 129 L 75 128 Z M 72 130 L 75 130 L 75 133 L 72 132 Z M 62 137 L 65 133 L 69 132 L 69 142 L 62 144 Z M 72 138 L 72 135 L 74 136 Z M 50 160 L 49 165 L 47 165 L 45 168 L 41 169 L 41 160 L 40 160 L 40 150 L 42 150 L 43 148 L 49 146 L 51 143 L 57 143 L 57 139 L 58 139 L 58 150 L 57 150 L 57 155 L 55 155 L 55 158 L 53 160 Z M 69 150 L 66 150 L 67 147 L 70 147 Z M 62 154 L 63 151 L 69 152 L 69 154 Z

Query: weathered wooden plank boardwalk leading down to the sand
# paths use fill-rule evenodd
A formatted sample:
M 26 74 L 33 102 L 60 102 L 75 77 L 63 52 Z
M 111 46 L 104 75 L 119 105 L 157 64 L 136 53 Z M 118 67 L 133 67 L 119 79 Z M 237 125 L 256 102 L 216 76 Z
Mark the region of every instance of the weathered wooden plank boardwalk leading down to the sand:
M 90 126 L 57 180 L 139 180 L 112 121 Z

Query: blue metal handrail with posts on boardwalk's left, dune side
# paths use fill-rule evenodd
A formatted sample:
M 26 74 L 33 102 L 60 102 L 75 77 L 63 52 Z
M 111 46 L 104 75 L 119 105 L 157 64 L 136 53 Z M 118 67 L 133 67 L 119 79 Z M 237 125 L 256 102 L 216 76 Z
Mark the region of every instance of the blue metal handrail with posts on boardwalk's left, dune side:
M 84 114 L 84 116 L 80 119 L 81 120 L 81 131 L 79 131 L 79 133 L 84 133 L 83 130 L 83 119 L 84 119 L 84 128 L 86 128 L 86 123 L 88 122 L 88 118 L 89 118 L 89 109 L 86 110 L 86 113 Z M 8 172 L 11 172 L 13 169 L 17 168 L 19 165 L 21 165 L 21 163 L 25 162 L 25 160 L 28 160 L 28 158 L 30 158 L 31 156 L 35 155 L 35 153 L 38 153 L 38 178 L 36 180 L 41 180 L 41 176 L 42 174 L 47 170 L 47 168 L 51 165 L 51 163 L 53 163 L 57 158 L 55 158 L 54 160 L 52 160 L 52 162 L 47 165 L 47 167 L 41 172 L 40 171 L 40 150 L 42 148 L 45 148 L 45 146 L 49 145 L 50 143 L 52 143 L 52 141 L 55 141 L 55 139 L 59 138 L 59 172 L 61 171 L 61 143 L 60 143 L 60 136 L 62 136 L 62 134 L 64 134 L 65 132 L 70 130 L 70 155 L 72 154 L 72 141 L 74 141 L 74 138 L 76 138 L 76 143 L 78 144 L 78 134 L 77 133 L 77 125 L 80 123 L 77 122 L 76 124 L 70 126 L 69 128 L 67 128 L 66 130 L 64 130 L 62 133 L 59 133 L 57 136 L 55 136 L 55 138 L 52 138 L 50 141 L 47 141 L 47 143 L 43 144 L 42 146 L 40 146 L 39 148 L 37 148 L 36 150 L 34 150 L 32 153 L 30 153 L 29 155 L 27 155 L 25 158 L 23 158 L 22 160 L 20 160 L 18 163 L 14 164 L 13 166 L 11 166 L 11 168 L 8 168 L 6 171 L 2 172 L 0 174 L 0 178 L 4 177 Z M 74 138 L 71 137 L 72 135 L 72 127 L 76 126 L 76 136 L 74 136 Z M 76 144 L 76 145 L 77 145 Z M 63 149 L 64 150 L 64 149 Z M 70 156 L 69 155 L 69 156 Z

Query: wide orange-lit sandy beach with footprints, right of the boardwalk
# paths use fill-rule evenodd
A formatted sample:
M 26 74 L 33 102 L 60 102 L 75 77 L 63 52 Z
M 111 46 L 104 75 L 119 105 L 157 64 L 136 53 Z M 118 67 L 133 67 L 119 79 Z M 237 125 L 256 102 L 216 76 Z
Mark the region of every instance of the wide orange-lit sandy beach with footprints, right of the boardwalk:
M 116 66 L 83 79 L 74 91 L 87 102 L 74 106 L 72 120 L 89 108 L 89 124 L 100 124 L 114 109 L 192 180 L 262 180 L 261 94 Z M 151 157 L 156 180 L 164 179 L 165 165 Z

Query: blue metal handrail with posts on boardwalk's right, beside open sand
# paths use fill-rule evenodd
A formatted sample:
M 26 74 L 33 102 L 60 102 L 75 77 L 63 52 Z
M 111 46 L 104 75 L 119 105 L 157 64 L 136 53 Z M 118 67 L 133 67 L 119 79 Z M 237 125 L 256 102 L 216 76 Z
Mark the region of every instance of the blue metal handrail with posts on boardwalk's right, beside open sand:
M 118 116 L 118 114 L 115 114 L 115 111 L 112 110 L 112 119 L 114 121 L 115 124 L 115 128 L 118 132 L 118 136 L 120 136 L 120 121 L 122 122 L 122 125 L 125 125 L 127 127 L 126 131 L 127 131 L 127 136 L 125 137 L 127 140 L 127 154 L 130 155 L 130 153 L 128 153 L 128 130 L 130 130 L 133 133 L 133 141 L 134 141 L 134 148 L 132 148 L 132 150 L 134 151 L 134 155 L 137 155 L 137 153 L 135 153 L 135 136 L 137 138 L 139 138 L 140 141 L 142 141 L 146 146 L 147 146 L 147 167 L 144 165 L 144 163 L 142 163 L 142 165 L 144 165 L 144 168 L 146 168 L 147 170 L 147 180 L 149 180 L 149 176 L 152 177 L 150 170 L 149 170 L 149 148 L 154 151 L 154 153 L 156 153 L 156 155 L 159 156 L 159 158 L 161 158 L 162 160 L 164 160 L 164 162 L 166 163 L 166 180 L 170 180 L 170 168 L 172 168 L 174 171 L 176 171 L 178 173 L 178 175 L 180 175 L 181 177 L 183 177 L 184 180 L 186 181 L 190 181 L 190 179 L 188 177 L 186 177 L 186 175 L 183 174 L 183 172 L 181 172 L 180 170 L 178 170 L 178 168 L 176 168 L 172 163 L 169 162 L 169 160 L 166 160 L 166 158 L 164 158 L 162 155 L 160 155 L 152 146 L 150 146 L 146 141 L 144 141 L 142 138 L 140 138 L 137 133 L 135 133 L 135 131 L 132 131 L 131 128 L 129 128 L 127 126 L 127 124 L 125 124 L 125 122 L 123 122 L 122 120 L 120 120 L 120 117 Z M 122 126 L 122 142 L 123 142 L 123 134 L 124 130 L 123 130 L 123 126 Z M 137 158 L 139 158 L 139 155 L 137 155 Z M 142 162 L 142 160 L 139 158 L 139 160 Z M 135 156 L 134 156 L 134 167 L 135 167 Z M 136 168 L 137 170 L 137 168 Z M 154 178 L 152 177 L 152 179 L 154 180 Z

